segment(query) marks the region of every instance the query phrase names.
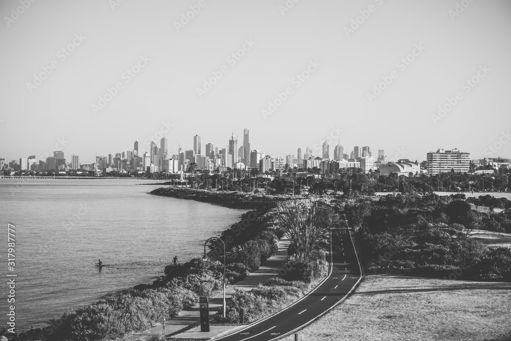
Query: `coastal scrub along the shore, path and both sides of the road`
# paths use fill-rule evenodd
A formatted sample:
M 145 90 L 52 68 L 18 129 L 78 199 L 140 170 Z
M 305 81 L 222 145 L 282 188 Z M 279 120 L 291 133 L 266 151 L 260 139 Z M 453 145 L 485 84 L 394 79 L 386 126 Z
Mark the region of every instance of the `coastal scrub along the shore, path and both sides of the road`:
M 278 240 L 287 235 L 292 257 L 283 264 L 281 276 L 250 291 L 237 290 L 227 303 L 226 318 L 219 315 L 213 323 L 239 323 L 242 310 L 244 323 L 258 320 L 295 301 L 325 276 L 329 231 L 344 223 L 339 212 L 356 231 L 366 274 L 397 271 L 451 280 L 511 280 L 511 249 L 487 247 L 473 237 L 481 230 L 511 232 L 508 200 L 423 195 L 410 188 L 395 196 L 355 192 L 313 204 L 288 195 L 178 187 L 151 193 L 250 211 L 222 232 L 223 243 L 207 245 L 209 259 L 167 266 L 152 284 L 65 313 L 51 321 L 51 328 L 20 334 L 22 340 L 102 340 L 148 329 L 164 316 L 190 309 L 199 296 L 219 292 L 224 255 L 226 281 L 235 283 L 274 255 Z M 480 211 L 480 206 L 491 209 Z

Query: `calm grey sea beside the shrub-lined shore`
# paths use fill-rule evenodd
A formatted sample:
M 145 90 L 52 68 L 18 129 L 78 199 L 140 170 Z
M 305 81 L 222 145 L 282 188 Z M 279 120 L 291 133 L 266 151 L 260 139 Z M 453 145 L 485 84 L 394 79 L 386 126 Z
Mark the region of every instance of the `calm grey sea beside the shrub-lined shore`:
M 7 274 L 17 274 L 16 330 L 151 283 L 177 255 L 200 257 L 246 210 L 147 194 L 140 179 L 0 179 L 0 326 L 7 325 Z M 15 227 L 15 271 L 7 226 Z M 101 271 L 94 264 L 101 259 Z M 10 305 L 10 304 L 9 304 Z

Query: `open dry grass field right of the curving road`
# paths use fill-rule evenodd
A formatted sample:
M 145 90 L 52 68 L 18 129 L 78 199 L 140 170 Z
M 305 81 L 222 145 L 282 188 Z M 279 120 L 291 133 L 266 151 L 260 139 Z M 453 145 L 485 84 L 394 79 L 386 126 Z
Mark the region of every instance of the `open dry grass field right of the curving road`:
M 298 335 L 300 341 L 511 340 L 510 316 L 511 283 L 373 275 Z

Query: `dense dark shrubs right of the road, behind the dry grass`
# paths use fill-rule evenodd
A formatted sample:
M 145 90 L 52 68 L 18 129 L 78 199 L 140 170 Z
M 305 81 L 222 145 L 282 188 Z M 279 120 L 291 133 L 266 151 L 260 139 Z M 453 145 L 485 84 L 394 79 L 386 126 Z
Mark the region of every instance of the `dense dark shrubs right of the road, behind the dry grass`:
M 367 274 L 511 281 L 511 248 L 489 248 L 472 238 L 484 231 L 511 232 L 511 212 L 482 213 L 469 202 L 464 195 L 410 193 L 358 197 L 344 210 L 357 231 Z

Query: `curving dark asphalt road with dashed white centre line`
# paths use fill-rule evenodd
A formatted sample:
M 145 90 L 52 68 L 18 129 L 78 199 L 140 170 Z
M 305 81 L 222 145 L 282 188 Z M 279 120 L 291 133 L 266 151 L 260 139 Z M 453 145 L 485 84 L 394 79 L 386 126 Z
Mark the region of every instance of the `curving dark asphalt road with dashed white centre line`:
M 346 229 L 332 233 L 330 276 L 314 291 L 292 306 L 234 334 L 222 341 L 269 341 L 301 329 L 336 306 L 361 279 L 357 255 Z

